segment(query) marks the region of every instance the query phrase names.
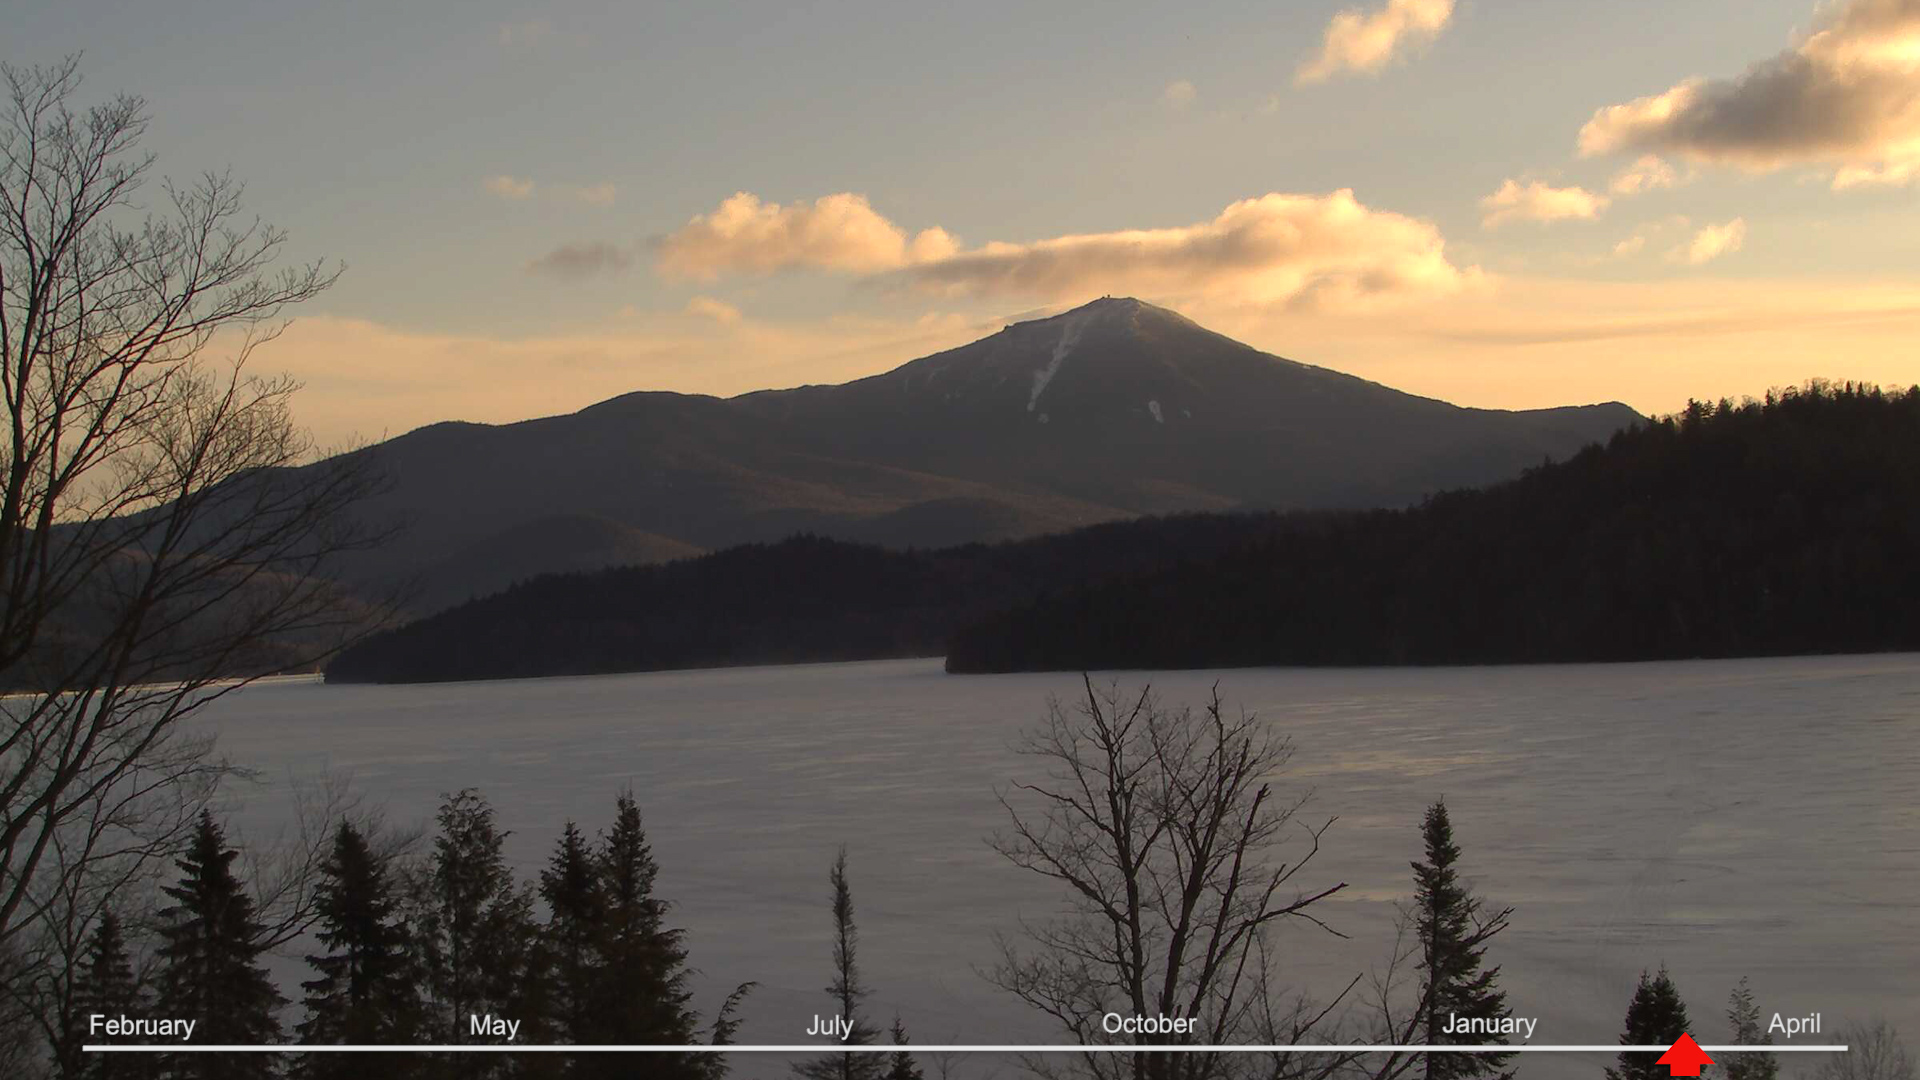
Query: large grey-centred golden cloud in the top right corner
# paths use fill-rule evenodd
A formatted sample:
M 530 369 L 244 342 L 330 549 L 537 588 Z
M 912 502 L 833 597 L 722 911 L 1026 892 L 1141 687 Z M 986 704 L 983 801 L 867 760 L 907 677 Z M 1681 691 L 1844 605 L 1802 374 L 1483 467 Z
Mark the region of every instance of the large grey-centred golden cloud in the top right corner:
M 1734 79 L 1686 79 L 1607 106 L 1580 152 L 1665 152 L 1774 171 L 1826 165 L 1834 186 L 1920 177 L 1920 0 L 1847 0 Z

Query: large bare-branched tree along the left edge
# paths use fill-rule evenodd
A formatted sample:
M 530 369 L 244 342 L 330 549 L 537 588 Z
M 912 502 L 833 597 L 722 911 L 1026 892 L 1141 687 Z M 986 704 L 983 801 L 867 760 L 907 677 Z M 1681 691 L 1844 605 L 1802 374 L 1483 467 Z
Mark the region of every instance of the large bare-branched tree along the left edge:
M 330 578 L 372 540 L 361 457 L 317 461 L 296 382 L 248 371 L 338 275 L 207 173 L 140 192 L 138 98 L 0 65 L 0 945 L 86 919 L 225 763 L 182 721 L 365 625 Z M 192 807 L 198 811 L 198 805 Z M 186 817 L 192 817 L 188 813 Z M 71 890 L 67 890 L 71 892 Z

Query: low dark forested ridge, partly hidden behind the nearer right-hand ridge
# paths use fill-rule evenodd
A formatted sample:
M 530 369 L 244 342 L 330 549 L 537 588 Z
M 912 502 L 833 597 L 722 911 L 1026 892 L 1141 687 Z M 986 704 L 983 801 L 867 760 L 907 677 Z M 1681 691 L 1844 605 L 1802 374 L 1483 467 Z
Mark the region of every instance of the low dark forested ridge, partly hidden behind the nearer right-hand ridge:
M 543 575 L 369 638 L 340 682 L 931 657 L 952 632 L 1079 580 L 1219 555 L 1300 515 L 1171 515 L 893 552 L 822 536 L 664 565 Z

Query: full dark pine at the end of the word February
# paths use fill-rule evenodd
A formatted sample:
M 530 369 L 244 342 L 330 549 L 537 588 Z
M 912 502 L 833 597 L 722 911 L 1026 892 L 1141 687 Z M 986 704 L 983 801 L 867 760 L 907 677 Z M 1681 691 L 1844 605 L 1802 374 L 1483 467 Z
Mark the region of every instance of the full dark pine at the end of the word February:
M 280 1038 L 275 1011 L 286 1003 L 259 965 L 261 924 L 253 897 L 234 874 L 240 853 L 213 815 L 200 824 L 179 859 L 180 882 L 163 890 L 173 901 L 159 913 L 161 1017 L 192 1017 L 192 1042 L 269 1043 Z M 252 1080 L 273 1074 L 269 1055 L 180 1053 L 169 1063 L 177 1080 Z

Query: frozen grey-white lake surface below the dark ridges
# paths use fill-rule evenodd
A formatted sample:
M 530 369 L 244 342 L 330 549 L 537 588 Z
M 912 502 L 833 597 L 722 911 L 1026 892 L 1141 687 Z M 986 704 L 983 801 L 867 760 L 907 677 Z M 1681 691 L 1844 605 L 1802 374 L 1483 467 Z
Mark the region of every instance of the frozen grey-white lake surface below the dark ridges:
M 1421 811 L 1444 796 L 1465 871 L 1513 928 L 1492 945 L 1534 1042 L 1611 1043 L 1667 965 L 1701 1042 L 1749 976 L 1761 1011 L 1884 1015 L 1920 1042 L 1920 655 L 1572 667 L 1123 673 L 1167 701 L 1223 698 L 1296 744 L 1281 778 L 1338 817 L 1306 886 L 1340 942 L 1290 928 L 1306 990 L 1379 965 L 1409 896 Z M 263 771 L 234 822 L 265 834 L 286 784 L 334 771 L 396 822 L 476 786 L 538 872 L 564 819 L 593 834 L 632 784 L 676 903 L 697 1005 L 758 980 L 743 1042 L 828 1013 L 828 863 L 851 853 L 860 961 L 883 1026 L 916 1042 L 1048 1042 L 987 986 L 993 934 L 1054 894 L 983 838 L 1025 774 L 1016 732 L 1073 675 L 948 676 L 937 661 L 436 686 L 275 682 L 209 713 Z M 1528 1057 L 1528 1076 L 1601 1061 Z M 1795 1063 L 1788 1065 L 1788 1072 Z M 735 1074 L 778 1074 L 743 1065 Z

